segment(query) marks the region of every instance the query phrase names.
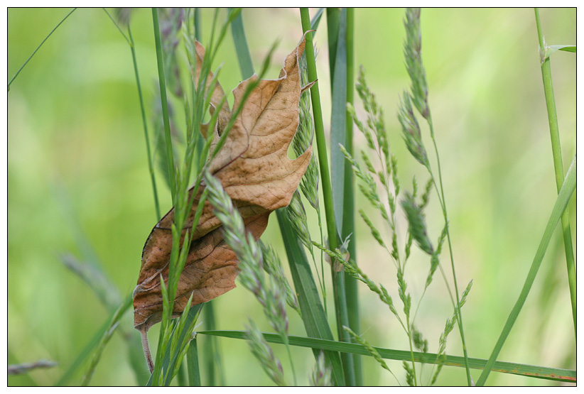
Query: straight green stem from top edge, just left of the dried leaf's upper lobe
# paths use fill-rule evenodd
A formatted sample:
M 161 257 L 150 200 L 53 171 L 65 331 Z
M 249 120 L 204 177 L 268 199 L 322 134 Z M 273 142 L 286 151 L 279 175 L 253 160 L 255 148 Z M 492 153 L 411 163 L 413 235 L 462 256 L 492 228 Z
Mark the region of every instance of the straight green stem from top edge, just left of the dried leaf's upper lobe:
M 171 138 L 171 124 L 168 120 L 168 102 L 166 99 L 166 80 L 164 78 L 164 62 L 160 39 L 160 26 L 158 25 L 158 9 L 152 9 L 152 21 L 154 24 L 154 41 L 156 43 L 156 60 L 158 62 L 158 82 L 160 83 L 160 97 L 162 104 L 162 119 L 164 123 L 164 135 L 166 137 L 166 157 L 168 158 L 168 177 L 171 180 L 171 195 L 173 205 L 176 199 L 176 178 L 173 157 L 173 141 Z

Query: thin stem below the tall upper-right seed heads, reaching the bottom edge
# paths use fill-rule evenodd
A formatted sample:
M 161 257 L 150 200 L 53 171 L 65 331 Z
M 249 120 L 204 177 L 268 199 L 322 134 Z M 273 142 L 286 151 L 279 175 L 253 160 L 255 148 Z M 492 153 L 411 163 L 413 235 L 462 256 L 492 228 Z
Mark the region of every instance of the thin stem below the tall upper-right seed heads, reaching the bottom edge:
M 456 302 L 453 303 L 454 309 L 458 316 L 457 323 L 458 323 L 458 330 L 460 331 L 460 341 L 463 344 L 463 355 L 465 358 L 465 369 L 466 369 L 466 378 L 467 384 L 472 385 L 472 377 L 470 376 L 470 366 L 468 365 L 468 353 L 466 349 L 466 341 L 465 341 L 465 330 L 463 328 L 463 314 L 460 312 L 460 293 L 458 292 L 458 281 L 456 280 L 456 270 L 454 268 L 454 254 L 452 250 L 452 241 L 450 240 L 450 226 L 448 225 L 448 213 L 446 212 L 446 200 L 444 196 L 444 187 L 442 182 L 442 170 L 440 168 L 440 155 L 438 154 L 438 145 L 436 144 L 436 138 L 434 138 L 434 125 L 432 122 L 432 115 L 428 114 L 428 124 L 430 126 L 430 135 L 432 137 L 432 142 L 434 146 L 434 151 L 436 152 L 436 163 L 438 164 L 438 181 L 440 182 L 440 190 L 438 190 L 438 185 L 436 185 L 436 180 L 432 171 L 430 170 L 430 166 L 428 165 L 428 171 L 432 179 L 434 180 L 434 187 L 436 187 L 436 193 L 438 194 L 438 199 L 440 200 L 440 206 L 442 207 L 442 213 L 444 216 L 445 226 L 446 226 L 446 239 L 448 240 L 448 252 L 450 253 L 450 265 L 452 266 L 452 275 L 454 281 L 454 290 L 456 295 Z M 440 268 L 441 269 L 441 268 Z

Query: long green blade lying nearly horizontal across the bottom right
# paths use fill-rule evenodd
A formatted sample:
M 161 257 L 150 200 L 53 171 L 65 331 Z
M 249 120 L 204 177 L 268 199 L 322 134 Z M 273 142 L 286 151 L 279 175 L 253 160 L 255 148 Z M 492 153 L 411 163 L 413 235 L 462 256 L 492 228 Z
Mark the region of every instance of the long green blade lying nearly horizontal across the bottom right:
M 202 331 L 198 334 L 222 336 L 224 338 L 244 339 L 244 332 L 242 331 Z M 266 341 L 272 344 L 282 344 L 282 340 L 278 334 L 264 333 Z M 312 349 L 323 349 L 329 351 L 341 351 L 352 354 L 361 354 L 363 356 L 371 356 L 367 348 L 360 344 L 347 344 L 345 342 L 329 341 L 326 339 L 306 338 L 303 336 L 288 336 L 291 346 L 308 347 Z M 384 349 L 373 346 L 373 349 L 382 356 L 382 359 L 409 361 L 412 354 L 410 351 Z M 413 359 L 416 362 L 436 364 L 438 363 L 438 354 L 435 353 L 421 353 L 413 352 Z M 462 356 L 445 356 L 445 366 L 457 366 L 464 368 L 465 359 Z M 487 360 L 469 358 L 470 368 L 482 369 L 485 368 Z M 509 363 L 506 361 L 495 361 L 494 371 L 501 373 L 511 373 L 519 376 L 529 376 L 531 378 L 548 379 L 551 381 L 562 381 L 576 383 L 576 371 L 562 368 L 550 368 L 544 366 L 531 366 L 528 364 Z

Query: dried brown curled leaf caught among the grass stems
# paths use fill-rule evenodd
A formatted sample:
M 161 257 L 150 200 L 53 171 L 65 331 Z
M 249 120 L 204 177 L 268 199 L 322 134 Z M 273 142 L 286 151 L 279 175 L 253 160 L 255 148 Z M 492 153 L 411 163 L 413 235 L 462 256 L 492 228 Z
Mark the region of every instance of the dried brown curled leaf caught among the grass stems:
M 301 87 L 298 70 L 298 60 L 303 51 L 304 40 L 286 57 L 277 80 L 259 81 L 229 131 L 225 145 L 208 163 L 210 173 L 220 180 L 242 214 L 246 230 L 256 239 L 266 229 L 269 214 L 290 203 L 312 154 L 312 148 L 308 148 L 296 160 L 288 158 L 288 146 L 298 128 L 298 101 L 306 88 Z M 200 43 L 196 43 L 196 52 L 194 77 L 195 83 L 198 83 L 205 55 L 205 49 Z M 233 90 L 234 108 L 242 102 L 247 86 L 257 78 L 254 75 Z M 211 80 L 210 73 L 207 76 L 207 87 Z M 223 96 L 223 89 L 217 84 L 212 92 L 211 112 L 217 111 Z M 227 101 L 219 111 L 217 124 L 202 127 L 203 134 L 208 132 L 210 126 L 215 133 L 212 148 L 231 118 Z M 204 188 L 202 182 L 183 229 L 183 237 L 187 229 L 193 228 L 195 210 Z M 190 190 L 192 192 L 193 189 Z M 174 210 L 171 209 L 154 226 L 142 252 L 138 285 L 134 290 L 134 327 L 142 332 L 161 321 L 163 300 L 160 278 L 162 275 L 165 282 L 168 280 L 173 221 Z M 207 201 L 192 234 L 193 241 L 185 268 L 178 280 L 173 316 L 183 312 L 191 293 L 192 305 L 198 305 L 235 287 L 237 257 L 225 243 L 221 223 Z

